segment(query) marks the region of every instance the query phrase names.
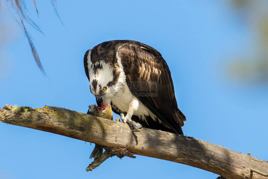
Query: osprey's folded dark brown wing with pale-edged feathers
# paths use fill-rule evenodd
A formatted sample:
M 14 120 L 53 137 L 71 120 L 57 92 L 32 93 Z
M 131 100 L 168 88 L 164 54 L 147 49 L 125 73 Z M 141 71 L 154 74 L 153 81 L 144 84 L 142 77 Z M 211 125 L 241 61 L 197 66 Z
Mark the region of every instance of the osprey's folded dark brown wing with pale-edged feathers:
M 140 42 L 128 41 L 119 47 L 118 56 L 132 94 L 175 133 L 183 134 L 186 118 L 178 109 L 170 70 L 161 54 Z M 143 86 L 138 91 L 137 84 Z

